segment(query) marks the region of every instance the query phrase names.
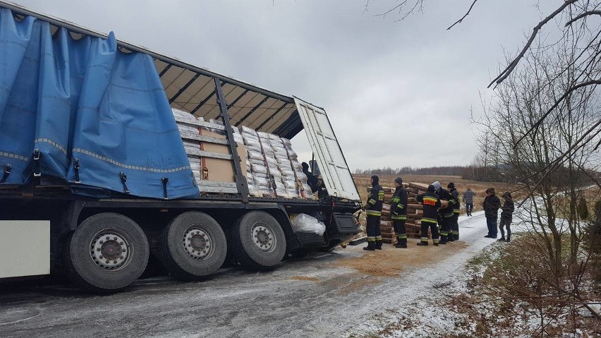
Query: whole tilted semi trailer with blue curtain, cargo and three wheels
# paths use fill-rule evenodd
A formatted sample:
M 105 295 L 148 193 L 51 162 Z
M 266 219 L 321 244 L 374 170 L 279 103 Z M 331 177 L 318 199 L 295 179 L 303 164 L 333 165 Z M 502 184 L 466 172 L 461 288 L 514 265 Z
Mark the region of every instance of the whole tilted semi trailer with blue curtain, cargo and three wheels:
M 284 146 L 301 131 L 321 198 Z M 114 292 L 151 255 L 181 279 L 269 270 L 356 234 L 360 205 L 321 107 L 0 1 L 0 279 Z

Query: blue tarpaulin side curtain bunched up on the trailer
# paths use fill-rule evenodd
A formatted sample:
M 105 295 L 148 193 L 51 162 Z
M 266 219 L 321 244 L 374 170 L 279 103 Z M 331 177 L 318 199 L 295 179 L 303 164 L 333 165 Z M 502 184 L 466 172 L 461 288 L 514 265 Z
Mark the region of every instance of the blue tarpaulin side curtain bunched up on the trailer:
M 75 193 L 168 198 L 198 195 L 186 151 L 151 56 L 108 39 L 75 40 L 65 28 L 0 9 L 0 177 L 40 173 L 81 183 Z

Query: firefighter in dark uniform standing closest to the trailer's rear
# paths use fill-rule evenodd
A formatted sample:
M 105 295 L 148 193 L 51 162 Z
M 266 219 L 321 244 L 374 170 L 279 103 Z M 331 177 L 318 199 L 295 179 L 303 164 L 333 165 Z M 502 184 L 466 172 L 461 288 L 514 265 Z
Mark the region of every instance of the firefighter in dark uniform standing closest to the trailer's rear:
M 372 188 L 368 194 L 368 203 L 363 206 L 367 215 L 368 246 L 363 250 L 382 250 L 382 233 L 380 233 L 380 217 L 382 217 L 382 204 L 384 203 L 384 189 L 380 186 L 378 176 L 372 176 Z

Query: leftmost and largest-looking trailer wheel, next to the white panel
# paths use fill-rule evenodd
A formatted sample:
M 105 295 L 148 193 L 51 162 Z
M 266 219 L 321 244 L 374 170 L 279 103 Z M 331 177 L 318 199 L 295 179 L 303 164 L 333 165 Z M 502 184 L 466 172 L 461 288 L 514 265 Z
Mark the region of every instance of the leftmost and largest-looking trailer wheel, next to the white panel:
M 135 282 L 148 262 L 148 241 L 132 219 L 104 212 L 85 219 L 68 241 L 71 281 L 95 292 L 114 292 Z

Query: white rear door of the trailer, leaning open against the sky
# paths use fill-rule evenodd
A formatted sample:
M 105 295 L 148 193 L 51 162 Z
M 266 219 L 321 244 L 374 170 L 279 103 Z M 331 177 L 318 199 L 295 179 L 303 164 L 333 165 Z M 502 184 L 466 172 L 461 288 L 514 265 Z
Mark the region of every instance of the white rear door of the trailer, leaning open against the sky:
M 297 97 L 294 98 L 294 102 L 329 195 L 361 200 L 324 109 Z

